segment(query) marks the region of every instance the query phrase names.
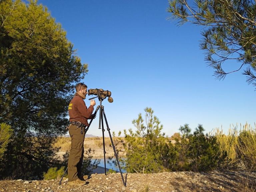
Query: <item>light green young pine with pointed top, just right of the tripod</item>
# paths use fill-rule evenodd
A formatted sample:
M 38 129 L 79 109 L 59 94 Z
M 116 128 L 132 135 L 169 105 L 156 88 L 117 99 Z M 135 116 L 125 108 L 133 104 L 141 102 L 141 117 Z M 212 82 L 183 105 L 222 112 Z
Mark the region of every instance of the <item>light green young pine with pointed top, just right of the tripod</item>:
M 135 132 L 124 130 L 124 147 L 126 151 L 127 171 L 131 173 L 155 173 L 163 170 L 159 142 L 163 142 L 161 134 L 163 125 L 153 116 L 151 108 L 145 108 L 145 119 L 142 114 L 132 121 L 137 128 Z

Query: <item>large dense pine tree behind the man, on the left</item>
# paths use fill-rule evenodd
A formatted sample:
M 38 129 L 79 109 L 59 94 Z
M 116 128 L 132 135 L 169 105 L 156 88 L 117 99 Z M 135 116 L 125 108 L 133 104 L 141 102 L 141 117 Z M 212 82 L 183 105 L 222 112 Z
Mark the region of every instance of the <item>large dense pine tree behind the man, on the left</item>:
M 56 163 L 52 143 L 65 133 L 74 84 L 87 65 L 36 1 L 2 0 L 0 16 L 0 122 L 15 132 L 0 175 L 42 177 Z

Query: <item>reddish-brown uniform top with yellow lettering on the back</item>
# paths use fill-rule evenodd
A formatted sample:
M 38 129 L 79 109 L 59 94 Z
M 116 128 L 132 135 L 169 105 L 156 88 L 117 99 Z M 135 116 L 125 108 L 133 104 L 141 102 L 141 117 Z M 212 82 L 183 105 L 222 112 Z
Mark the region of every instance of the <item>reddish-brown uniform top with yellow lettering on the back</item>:
M 91 119 L 92 112 L 93 106 L 87 108 L 83 98 L 76 93 L 68 106 L 69 121 L 79 121 L 88 126 L 87 119 Z

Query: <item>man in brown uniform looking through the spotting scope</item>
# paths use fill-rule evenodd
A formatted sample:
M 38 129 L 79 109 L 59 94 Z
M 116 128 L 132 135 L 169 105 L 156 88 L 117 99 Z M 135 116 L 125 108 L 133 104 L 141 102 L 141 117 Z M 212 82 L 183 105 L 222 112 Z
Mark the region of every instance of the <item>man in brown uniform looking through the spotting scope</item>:
M 83 99 L 87 93 L 87 86 L 83 83 L 76 85 L 76 94 L 69 103 L 69 135 L 71 137 L 71 148 L 68 158 L 68 184 L 69 185 L 84 185 L 82 175 L 82 164 L 84 157 L 84 136 L 85 126 L 88 126 L 87 119 L 91 119 L 93 106 L 96 104 L 91 100 L 91 105 L 87 108 Z

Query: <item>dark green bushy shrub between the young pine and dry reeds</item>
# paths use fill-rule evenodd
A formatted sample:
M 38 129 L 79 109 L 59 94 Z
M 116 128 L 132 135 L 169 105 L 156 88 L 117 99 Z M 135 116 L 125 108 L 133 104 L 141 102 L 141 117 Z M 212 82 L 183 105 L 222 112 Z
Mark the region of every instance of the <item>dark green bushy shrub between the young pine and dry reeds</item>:
M 205 135 L 202 125 L 193 134 L 188 124 L 180 126 L 181 137 L 176 143 L 160 144 L 164 168 L 172 171 L 206 171 L 218 167 L 224 160 L 216 138 Z

